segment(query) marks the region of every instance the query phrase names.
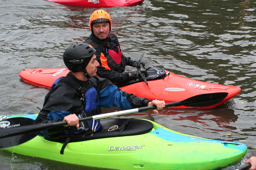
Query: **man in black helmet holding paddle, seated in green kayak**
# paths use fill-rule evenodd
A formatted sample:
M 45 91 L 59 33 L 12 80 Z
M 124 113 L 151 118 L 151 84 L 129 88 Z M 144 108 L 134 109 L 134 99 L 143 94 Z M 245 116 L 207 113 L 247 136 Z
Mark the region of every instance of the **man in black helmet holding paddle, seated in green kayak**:
M 101 113 L 101 107 L 121 110 L 152 105 L 158 110 L 165 107 L 164 101 L 136 97 L 123 92 L 108 79 L 95 77 L 99 66 L 95 52 L 87 43 L 76 43 L 65 50 L 63 60 L 71 72 L 55 81 L 36 121 L 67 121 L 68 125 L 44 130 L 41 136 L 91 134 L 100 128 L 100 120 L 79 123 L 78 118 L 97 115 Z M 157 110 L 154 112 L 158 113 Z

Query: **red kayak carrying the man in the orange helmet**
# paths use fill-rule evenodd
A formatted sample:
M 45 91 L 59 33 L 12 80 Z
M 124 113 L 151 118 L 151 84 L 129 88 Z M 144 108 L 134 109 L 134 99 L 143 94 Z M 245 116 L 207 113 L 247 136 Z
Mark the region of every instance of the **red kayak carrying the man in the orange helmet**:
M 166 103 L 183 101 L 189 97 L 206 93 L 228 93 L 227 97 L 221 102 L 208 107 L 196 107 L 200 109 L 213 108 L 232 99 L 240 93 L 240 87 L 219 85 L 203 81 L 193 80 L 171 73 L 160 68 L 147 69 L 149 75 L 146 77 L 148 85 L 143 79 L 137 79 L 117 86 L 139 97 L 145 97 L 150 100 L 164 100 Z M 25 69 L 20 71 L 22 80 L 36 85 L 51 88 L 51 85 L 59 77 L 67 75 L 69 70 L 63 69 Z M 179 106 L 177 108 L 188 108 Z

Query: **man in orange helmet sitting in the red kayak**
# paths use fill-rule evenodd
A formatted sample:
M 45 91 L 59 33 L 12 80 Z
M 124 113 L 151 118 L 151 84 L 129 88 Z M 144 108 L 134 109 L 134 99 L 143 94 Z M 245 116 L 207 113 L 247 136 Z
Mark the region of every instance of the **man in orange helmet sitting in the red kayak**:
M 124 72 L 125 66 L 129 65 L 140 69 L 141 73 L 147 76 L 146 69 L 140 68 L 140 64 L 145 66 L 143 61 L 133 61 L 122 54 L 117 36 L 110 33 L 111 27 L 112 21 L 106 11 L 96 10 L 91 14 L 91 36 L 84 42 L 96 49 L 95 55 L 100 63 L 97 75 L 109 79 L 112 83 L 124 83 L 140 78 L 138 70 Z

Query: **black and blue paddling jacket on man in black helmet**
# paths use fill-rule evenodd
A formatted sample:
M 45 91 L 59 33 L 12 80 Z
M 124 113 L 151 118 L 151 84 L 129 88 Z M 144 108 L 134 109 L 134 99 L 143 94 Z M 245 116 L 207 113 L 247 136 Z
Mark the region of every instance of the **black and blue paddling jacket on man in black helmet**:
M 108 81 L 108 79 L 91 77 L 84 82 L 73 76 L 71 72 L 66 77 L 71 83 L 59 82 L 49 91 L 45 97 L 43 109 L 40 111 L 36 121 L 41 123 L 63 121 L 65 116 L 78 114 L 85 108 L 86 103 L 81 100 L 81 91 L 71 87 L 72 83 L 77 83 L 83 87 L 84 93 L 91 87 L 94 87 L 98 92 L 99 105 L 102 107 L 118 107 L 121 110 L 125 110 L 145 107 L 149 102 L 148 99 L 123 92 L 116 85 Z M 63 126 L 52 128 L 45 133 L 59 132 L 64 128 Z

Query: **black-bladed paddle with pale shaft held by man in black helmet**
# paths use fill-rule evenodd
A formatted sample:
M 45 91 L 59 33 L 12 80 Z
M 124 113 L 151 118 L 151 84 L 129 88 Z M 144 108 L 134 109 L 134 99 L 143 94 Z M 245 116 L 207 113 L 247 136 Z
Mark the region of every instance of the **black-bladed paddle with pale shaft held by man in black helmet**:
M 188 107 L 206 107 L 215 105 L 226 98 L 228 93 L 208 93 L 190 97 L 183 101 L 167 103 L 165 107 L 188 106 Z M 125 115 L 129 113 L 137 113 L 156 109 L 156 106 L 140 107 L 125 111 L 117 111 L 112 113 L 104 113 L 91 117 L 79 119 L 79 122 L 103 119 L 112 116 Z M 66 121 L 54 123 L 39 123 L 33 119 L 24 117 L 14 117 L 0 121 L 0 148 L 8 148 L 22 144 L 33 139 L 42 130 L 47 128 L 59 127 L 67 125 Z

